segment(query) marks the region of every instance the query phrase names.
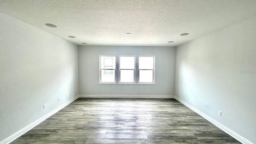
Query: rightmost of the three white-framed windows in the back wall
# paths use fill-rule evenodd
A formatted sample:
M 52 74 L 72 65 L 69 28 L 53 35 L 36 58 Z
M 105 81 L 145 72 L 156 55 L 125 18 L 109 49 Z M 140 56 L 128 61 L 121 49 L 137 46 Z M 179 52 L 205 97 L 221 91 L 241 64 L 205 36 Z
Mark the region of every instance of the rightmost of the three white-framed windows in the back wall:
M 139 83 L 154 83 L 155 56 L 139 56 Z

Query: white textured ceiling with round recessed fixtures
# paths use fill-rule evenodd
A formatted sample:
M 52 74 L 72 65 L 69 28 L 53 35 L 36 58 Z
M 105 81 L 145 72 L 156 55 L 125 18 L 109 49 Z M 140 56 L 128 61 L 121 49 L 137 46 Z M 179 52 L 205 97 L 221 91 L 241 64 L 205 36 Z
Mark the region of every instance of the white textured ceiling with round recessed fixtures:
M 255 16 L 256 0 L 0 0 L 0 12 L 78 45 L 178 46 Z

